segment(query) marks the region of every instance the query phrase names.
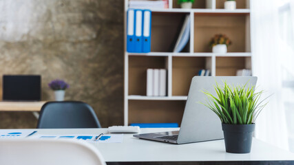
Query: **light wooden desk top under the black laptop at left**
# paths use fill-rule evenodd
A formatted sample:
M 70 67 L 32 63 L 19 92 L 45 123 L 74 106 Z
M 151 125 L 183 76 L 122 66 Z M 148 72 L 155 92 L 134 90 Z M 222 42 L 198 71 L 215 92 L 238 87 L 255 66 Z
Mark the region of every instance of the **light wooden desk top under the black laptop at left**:
M 45 101 L 37 102 L 2 102 L 0 101 L 0 111 L 41 111 Z

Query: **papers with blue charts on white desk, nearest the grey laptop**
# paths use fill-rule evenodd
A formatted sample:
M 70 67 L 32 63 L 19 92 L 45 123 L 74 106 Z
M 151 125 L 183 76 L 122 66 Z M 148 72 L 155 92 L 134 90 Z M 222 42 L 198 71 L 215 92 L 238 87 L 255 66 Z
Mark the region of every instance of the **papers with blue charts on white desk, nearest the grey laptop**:
M 68 140 L 85 140 L 86 142 L 96 143 L 121 143 L 123 142 L 123 134 L 105 134 L 99 140 L 95 140 L 98 135 L 34 135 L 32 138 L 38 139 L 68 139 Z

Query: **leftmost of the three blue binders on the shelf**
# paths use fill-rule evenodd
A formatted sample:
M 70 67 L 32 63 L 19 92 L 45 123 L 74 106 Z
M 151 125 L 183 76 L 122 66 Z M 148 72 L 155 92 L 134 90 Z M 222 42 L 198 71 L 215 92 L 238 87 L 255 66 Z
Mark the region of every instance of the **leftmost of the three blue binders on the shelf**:
M 127 10 L 127 52 L 135 52 L 135 10 Z

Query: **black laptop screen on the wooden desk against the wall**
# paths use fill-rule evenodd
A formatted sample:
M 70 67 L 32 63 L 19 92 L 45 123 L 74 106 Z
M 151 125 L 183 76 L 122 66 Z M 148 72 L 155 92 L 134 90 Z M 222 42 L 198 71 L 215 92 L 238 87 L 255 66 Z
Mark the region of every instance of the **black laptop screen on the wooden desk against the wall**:
M 41 76 L 4 75 L 3 100 L 39 101 L 41 100 Z

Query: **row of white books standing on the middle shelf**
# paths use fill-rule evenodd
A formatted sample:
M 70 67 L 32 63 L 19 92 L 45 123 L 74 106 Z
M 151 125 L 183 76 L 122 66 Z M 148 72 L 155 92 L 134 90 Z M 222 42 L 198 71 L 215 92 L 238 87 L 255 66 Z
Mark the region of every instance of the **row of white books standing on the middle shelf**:
M 147 69 L 147 96 L 167 96 L 167 70 Z

